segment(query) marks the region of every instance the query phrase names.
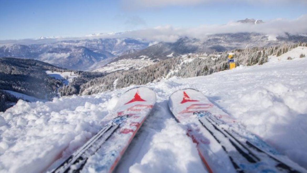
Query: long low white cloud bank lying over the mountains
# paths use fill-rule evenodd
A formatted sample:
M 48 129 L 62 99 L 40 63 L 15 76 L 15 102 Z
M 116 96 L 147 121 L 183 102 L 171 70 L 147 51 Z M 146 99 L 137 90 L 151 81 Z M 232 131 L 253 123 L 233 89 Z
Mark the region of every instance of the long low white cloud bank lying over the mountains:
M 198 0 L 194 0 L 195 2 Z M 184 1 L 182 1 L 184 2 Z M 256 32 L 264 33 L 270 36 L 283 35 L 285 33 L 290 34 L 307 34 L 307 14 L 300 16 L 294 20 L 288 19 L 274 19 L 271 21 L 264 21 L 260 24 L 251 24 L 251 23 L 240 23 L 236 21 L 228 22 L 224 25 L 200 25 L 197 27 L 190 28 L 174 28 L 170 25 L 166 26 L 157 26 L 154 28 L 131 30 L 122 33 L 100 33 L 92 34 L 86 37 L 77 37 L 77 38 L 49 38 L 44 40 L 7 40 L 0 41 L 0 44 L 9 44 L 9 43 L 21 43 L 26 44 L 27 42 L 48 42 L 48 41 L 59 41 L 67 39 L 96 39 L 96 38 L 141 38 L 146 41 L 165 41 L 165 42 L 174 42 L 177 41 L 180 37 L 195 37 L 195 38 L 204 38 L 208 34 L 217 34 L 217 33 L 240 33 L 240 32 Z M 29 43 L 28 43 L 29 44 Z

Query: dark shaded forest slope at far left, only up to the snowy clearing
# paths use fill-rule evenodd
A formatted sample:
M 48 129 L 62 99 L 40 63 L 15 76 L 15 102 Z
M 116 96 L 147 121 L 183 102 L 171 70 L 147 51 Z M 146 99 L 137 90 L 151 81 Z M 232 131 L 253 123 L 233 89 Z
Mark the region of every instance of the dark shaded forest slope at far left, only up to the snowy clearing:
M 49 76 L 45 72 L 46 70 L 68 71 L 33 59 L 0 58 L 0 90 L 10 90 L 39 99 L 50 100 L 56 96 L 56 88 L 63 83 Z M 17 100 L 9 93 L 1 92 L 1 107 L 3 109 L 7 108 L 3 103 L 17 102 Z

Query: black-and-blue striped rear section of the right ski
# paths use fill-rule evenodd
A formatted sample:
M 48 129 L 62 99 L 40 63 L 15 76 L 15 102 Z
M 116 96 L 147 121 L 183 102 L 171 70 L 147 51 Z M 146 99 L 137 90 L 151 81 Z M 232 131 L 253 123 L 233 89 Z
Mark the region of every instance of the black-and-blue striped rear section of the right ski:
M 259 170 L 268 172 L 299 172 L 280 160 L 261 150 L 246 138 L 240 136 L 221 120 L 210 115 L 209 112 L 194 112 L 199 117 L 199 122 L 216 139 L 228 154 L 231 163 L 237 172 Z M 224 126 L 224 127 L 222 127 Z M 262 141 L 263 142 L 263 141 Z M 236 152 L 231 152 L 235 149 Z M 259 169 L 260 168 L 260 169 Z

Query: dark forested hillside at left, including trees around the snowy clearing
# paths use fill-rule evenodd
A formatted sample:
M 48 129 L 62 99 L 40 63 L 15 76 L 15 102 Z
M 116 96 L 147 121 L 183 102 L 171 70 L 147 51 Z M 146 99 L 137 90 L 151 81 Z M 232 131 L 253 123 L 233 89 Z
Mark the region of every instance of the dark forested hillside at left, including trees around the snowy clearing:
M 56 79 L 47 74 L 47 70 L 52 72 L 72 72 L 72 70 L 33 59 L 0 58 L 0 111 L 5 111 L 20 99 L 5 92 L 5 90 L 33 96 L 38 99 L 51 100 L 57 96 L 58 92 L 63 93 L 61 91 L 64 91 L 67 95 L 79 93 L 80 85 L 94 78 L 105 76 L 104 73 L 74 71 L 74 73 L 78 73 L 79 77 L 76 77 L 68 86 L 65 86 L 61 79 Z

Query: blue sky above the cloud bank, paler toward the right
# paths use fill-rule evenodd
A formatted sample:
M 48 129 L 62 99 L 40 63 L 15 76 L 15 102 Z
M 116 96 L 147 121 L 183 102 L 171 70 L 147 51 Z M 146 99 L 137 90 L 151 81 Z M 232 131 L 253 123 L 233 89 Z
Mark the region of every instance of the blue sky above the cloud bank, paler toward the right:
M 0 0 L 0 40 L 81 37 L 157 26 L 188 28 L 245 18 L 295 20 L 307 14 L 304 1 Z

